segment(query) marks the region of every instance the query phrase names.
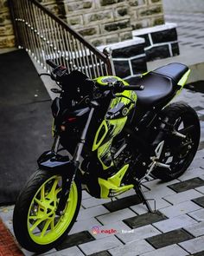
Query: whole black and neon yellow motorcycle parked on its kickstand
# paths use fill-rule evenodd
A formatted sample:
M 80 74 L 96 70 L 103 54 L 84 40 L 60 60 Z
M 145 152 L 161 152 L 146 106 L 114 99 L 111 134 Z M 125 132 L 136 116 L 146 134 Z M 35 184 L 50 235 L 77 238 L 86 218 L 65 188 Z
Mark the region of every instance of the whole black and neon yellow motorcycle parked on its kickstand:
M 194 109 L 170 103 L 187 82 L 187 66 L 170 63 L 130 85 L 114 75 L 89 79 L 47 63 L 60 87 L 52 89 L 60 94 L 51 106 L 54 144 L 39 157 L 39 169 L 22 188 L 13 215 L 16 239 L 35 253 L 66 238 L 80 211 L 81 185 L 101 199 L 135 189 L 153 212 L 142 181 L 150 175 L 162 181 L 181 176 L 200 141 Z M 115 168 L 105 171 L 101 159 L 107 148 Z

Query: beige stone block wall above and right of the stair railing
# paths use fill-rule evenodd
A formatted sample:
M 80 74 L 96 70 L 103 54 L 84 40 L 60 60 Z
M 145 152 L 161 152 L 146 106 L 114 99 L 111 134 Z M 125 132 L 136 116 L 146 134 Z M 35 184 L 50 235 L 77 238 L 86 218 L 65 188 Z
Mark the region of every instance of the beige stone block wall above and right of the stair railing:
M 123 42 L 132 30 L 163 23 L 162 0 L 41 0 L 95 46 Z

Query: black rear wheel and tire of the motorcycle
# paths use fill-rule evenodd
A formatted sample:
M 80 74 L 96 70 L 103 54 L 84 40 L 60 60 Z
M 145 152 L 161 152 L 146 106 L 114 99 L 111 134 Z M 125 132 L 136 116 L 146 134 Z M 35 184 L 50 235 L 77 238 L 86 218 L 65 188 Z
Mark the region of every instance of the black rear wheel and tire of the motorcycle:
M 168 122 L 175 126 L 176 131 L 181 131 L 183 128 L 194 126 L 186 135 L 187 139 L 181 139 L 175 135 L 167 135 L 164 141 L 163 154 L 160 162 L 168 163 L 171 170 L 156 167 L 152 174 L 162 181 L 172 181 L 181 176 L 194 160 L 194 155 L 197 152 L 201 127 L 198 115 L 185 102 L 176 102 L 170 104 L 163 109 L 162 118 L 168 119 Z M 182 126 L 183 128 L 180 128 Z M 182 145 L 186 145 L 186 148 Z M 188 148 L 189 147 L 189 148 Z M 185 152 L 186 150 L 186 152 Z M 169 152 L 172 154 L 168 156 Z M 170 157 L 172 161 L 168 162 Z

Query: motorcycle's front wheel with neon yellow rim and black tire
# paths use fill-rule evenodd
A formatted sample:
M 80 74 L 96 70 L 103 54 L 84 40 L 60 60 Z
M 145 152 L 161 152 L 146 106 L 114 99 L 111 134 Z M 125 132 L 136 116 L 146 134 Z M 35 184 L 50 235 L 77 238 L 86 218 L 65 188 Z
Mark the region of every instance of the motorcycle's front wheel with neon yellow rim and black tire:
M 61 216 L 55 213 L 62 187 L 60 174 L 38 170 L 19 195 L 13 215 L 16 239 L 22 247 L 43 253 L 57 246 L 72 228 L 80 210 L 81 186 L 74 181 Z

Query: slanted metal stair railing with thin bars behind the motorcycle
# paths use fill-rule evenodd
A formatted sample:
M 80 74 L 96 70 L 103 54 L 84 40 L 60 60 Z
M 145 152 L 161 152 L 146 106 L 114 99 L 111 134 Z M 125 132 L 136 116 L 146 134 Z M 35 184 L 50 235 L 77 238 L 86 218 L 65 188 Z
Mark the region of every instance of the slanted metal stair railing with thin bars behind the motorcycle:
M 52 59 L 68 71 L 79 69 L 91 78 L 115 74 L 110 49 L 100 52 L 41 3 L 10 0 L 10 7 L 18 46 L 48 72 L 46 60 Z

